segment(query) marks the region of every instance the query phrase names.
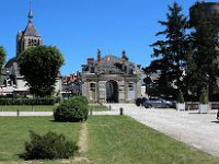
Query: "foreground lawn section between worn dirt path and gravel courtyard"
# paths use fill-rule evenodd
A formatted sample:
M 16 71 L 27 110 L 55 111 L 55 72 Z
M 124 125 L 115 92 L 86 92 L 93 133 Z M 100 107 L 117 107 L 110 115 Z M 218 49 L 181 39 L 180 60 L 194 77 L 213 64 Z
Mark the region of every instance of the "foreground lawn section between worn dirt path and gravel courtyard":
M 95 164 L 218 164 L 219 159 L 185 145 L 126 116 L 88 120 L 89 151 Z

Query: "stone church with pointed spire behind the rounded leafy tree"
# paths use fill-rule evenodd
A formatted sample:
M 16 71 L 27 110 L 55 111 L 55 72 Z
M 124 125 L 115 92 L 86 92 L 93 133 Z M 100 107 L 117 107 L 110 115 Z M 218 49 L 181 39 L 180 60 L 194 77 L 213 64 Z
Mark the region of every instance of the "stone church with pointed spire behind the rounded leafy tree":
M 28 94 L 28 86 L 24 81 L 24 77 L 20 74 L 16 58 L 25 49 L 30 47 L 36 47 L 42 45 L 42 37 L 34 27 L 33 24 L 33 12 L 28 12 L 28 22 L 24 31 L 20 31 L 16 35 L 16 55 L 11 58 L 1 70 L 2 75 L 0 77 L 0 94 Z M 61 91 L 61 79 L 57 81 L 56 93 Z

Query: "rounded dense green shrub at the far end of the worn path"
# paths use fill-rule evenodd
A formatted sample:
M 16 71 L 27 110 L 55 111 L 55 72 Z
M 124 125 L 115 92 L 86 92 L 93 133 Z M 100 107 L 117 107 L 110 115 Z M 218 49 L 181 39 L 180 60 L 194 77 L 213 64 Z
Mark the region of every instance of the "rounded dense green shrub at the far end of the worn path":
M 83 96 L 73 96 L 64 101 L 54 112 L 56 121 L 84 121 L 88 119 L 88 99 Z

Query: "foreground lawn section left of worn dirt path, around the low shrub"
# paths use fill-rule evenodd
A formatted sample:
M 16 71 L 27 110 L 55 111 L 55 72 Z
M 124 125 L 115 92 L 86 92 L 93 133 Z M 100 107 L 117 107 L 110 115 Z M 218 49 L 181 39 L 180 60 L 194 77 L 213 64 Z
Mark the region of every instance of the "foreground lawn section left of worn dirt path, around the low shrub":
M 22 161 L 24 142 L 30 139 L 30 130 L 37 133 L 54 131 L 64 133 L 68 140 L 77 141 L 81 124 L 55 122 L 53 117 L 0 117 L 0 163 Z

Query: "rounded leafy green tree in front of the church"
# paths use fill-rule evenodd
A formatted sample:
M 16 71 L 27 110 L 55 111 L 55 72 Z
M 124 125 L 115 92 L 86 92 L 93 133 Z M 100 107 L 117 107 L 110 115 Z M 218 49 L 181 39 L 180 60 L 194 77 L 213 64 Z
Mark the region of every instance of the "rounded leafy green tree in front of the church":
M 56 47 L 31 47 L 23 51 L 18 63 L 30 92 L 36 96 L 51 95 L 64 58 Z

